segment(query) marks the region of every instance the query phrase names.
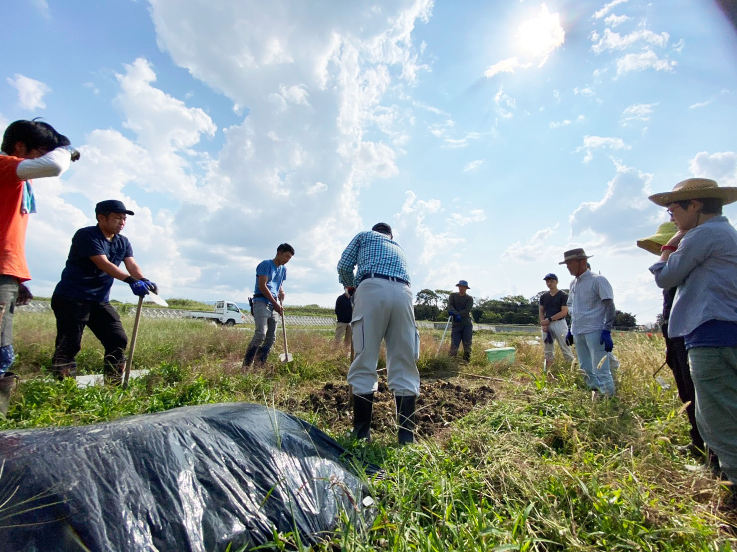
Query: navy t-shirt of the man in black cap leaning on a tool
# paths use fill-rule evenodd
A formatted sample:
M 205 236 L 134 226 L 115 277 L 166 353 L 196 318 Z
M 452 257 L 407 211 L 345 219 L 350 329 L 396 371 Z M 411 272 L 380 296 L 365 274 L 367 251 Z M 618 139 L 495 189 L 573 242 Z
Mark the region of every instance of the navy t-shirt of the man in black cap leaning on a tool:
M 128 238 L 120 234 L 108 240 L 98 226 L 80 228 L 71 238 L 69 258 L 54 293 L 76 299 L 107 301 L 115 278 L 90 260 L 95 255 L 105 255 L 108 261 L 119 266 L 123 259 L 133 257 L 133 249 Z

